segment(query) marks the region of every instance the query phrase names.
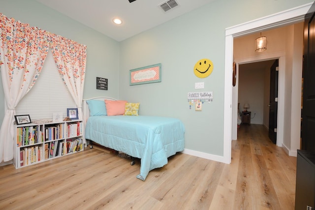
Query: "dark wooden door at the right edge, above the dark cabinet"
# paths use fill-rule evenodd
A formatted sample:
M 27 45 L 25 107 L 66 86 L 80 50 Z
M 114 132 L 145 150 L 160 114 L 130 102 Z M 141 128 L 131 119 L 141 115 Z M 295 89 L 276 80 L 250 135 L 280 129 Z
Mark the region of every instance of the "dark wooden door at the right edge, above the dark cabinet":
M 315 3 L 305 15 L 302 150 L 315 152 Z

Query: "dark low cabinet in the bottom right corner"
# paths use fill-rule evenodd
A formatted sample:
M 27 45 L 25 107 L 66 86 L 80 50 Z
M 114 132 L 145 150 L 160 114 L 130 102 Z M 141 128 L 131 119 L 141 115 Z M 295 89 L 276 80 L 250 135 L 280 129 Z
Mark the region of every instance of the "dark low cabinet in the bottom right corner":
M 297 150 L 295 210 L 315 210 L 315 152 Z

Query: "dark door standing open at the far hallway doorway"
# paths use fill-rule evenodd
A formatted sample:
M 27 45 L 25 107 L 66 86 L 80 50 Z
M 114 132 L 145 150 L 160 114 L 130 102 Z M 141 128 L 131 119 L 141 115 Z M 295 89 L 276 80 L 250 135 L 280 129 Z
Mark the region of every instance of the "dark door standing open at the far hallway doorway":
M 278 119 L 278 78 L 279 60 L 275 60 L 270 68 L 270 95 L 269 95 L 269 139 L 277 143 L 277 119 Z

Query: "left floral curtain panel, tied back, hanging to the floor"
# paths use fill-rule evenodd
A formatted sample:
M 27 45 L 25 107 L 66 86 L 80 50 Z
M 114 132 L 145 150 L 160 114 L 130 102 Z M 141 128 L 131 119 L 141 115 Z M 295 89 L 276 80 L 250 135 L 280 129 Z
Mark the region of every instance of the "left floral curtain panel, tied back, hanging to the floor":
M 40 74 L 49 49 L 47 34 L 0 14 L 0 71 L 8 108 L 0 128 L 0 162 L 13 158 L 15 107 Z

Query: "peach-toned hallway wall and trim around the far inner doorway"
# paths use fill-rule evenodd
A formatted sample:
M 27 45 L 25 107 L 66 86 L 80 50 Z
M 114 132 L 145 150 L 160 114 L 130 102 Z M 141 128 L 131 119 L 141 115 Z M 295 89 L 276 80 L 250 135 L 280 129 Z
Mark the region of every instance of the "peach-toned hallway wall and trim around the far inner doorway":
M 292 156 L 296 156 L 296 150 L 300 149 L 303 26 L 303 22 L 299 22 L 265 30 L 263 34 L 267 36 L 267 50 L 260 53 L 256 53 L 252 46 L 260 32 L 234 38 L 233 56 L 239 64 L 279 59 L 279 101 L 275 107 L 278 119 L 274 121 L 277 129 L 273 132 L 277 146 L 283 147 Z M 232 97 L 237 99 L 237 95 L 233 93 Z

